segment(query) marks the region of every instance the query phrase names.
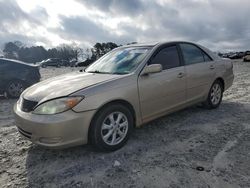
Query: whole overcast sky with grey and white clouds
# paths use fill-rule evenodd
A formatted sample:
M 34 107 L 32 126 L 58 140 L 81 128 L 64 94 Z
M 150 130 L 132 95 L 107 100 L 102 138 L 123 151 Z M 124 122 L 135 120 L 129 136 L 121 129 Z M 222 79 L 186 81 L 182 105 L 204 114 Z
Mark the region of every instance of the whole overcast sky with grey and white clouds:
M 249 0 L 0 0 L 0 45 L 187 40 L 250 49 Z

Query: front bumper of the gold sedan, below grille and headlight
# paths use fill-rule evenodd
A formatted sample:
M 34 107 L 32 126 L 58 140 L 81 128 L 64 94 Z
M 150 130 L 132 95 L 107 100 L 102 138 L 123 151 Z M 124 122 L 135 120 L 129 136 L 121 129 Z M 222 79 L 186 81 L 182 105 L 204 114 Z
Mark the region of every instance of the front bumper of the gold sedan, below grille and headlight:
M 65 148 L 88 142 L 88 129 L 95 110 L 76 113 L 72 110 L 55 115 L 36 115 L 14 106 L 16 126 L 31 142 L 50 147 Z

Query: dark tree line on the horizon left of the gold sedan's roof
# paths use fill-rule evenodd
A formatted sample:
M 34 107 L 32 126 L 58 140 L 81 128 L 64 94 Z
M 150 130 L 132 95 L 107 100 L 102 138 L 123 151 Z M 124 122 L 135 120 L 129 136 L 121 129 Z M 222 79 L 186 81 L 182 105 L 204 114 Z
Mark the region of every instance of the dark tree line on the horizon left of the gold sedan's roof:
M 96 43 L 92 48 L 80 48 L 76 44 L 62 44 L 55 48 L 45 49 L 43 46 L 27 47 L 20 41 L 4 44 L 4 58 L 21 60 L 27 63 L 36 63 L 48 58 L 60 58 L 67 61 L 87 61 L 91 63 L 107 52 L 117 48 L 113 42 Z

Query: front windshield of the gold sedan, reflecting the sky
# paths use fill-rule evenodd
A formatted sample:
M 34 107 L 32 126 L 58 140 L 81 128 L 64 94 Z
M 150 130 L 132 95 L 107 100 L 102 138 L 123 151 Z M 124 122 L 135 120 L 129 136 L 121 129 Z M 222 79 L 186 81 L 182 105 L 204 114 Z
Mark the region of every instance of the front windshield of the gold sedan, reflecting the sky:
M 103 74 L 131 73 L 150 50 L 149 47 L 130 47 L 114 50 L 90 65 L 85 72 Z

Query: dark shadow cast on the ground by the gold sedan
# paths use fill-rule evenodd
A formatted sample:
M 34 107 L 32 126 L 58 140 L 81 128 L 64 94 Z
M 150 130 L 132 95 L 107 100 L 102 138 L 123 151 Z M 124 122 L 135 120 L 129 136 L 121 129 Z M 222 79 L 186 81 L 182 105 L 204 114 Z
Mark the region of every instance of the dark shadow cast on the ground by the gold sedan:
M 91 181 L 95 178 L 100 181 L 102 178 L 113 181 L 112 178 L 116 173 L 124 173 L 123 175 L 127 176 L 133 168 L 140 168 L 138 165 L 144 164 L 144 161 L 150 163 L 158 155 L 167 156 L 171 151 L 168 151 L 165 146 L 172 142 L 183 142 L 198 137 L 203 138 L 206 144 L 206 139 L 213 138 L 212 134 L 217 139 L 216 132 L 210 133 L 202 129 L 205 124 L 209 123 L 213 128 L 227 131 L 227 127 L 237 124 L 237 120 L 242 118 L 246 111 L 250 112 L 250 105 L 229 101 L 224 101 L 220 108 L 215 110 L 190 107 L 135 129 L 131 139 L 123 148 L 109 153 L 96 151 L 90 145 L 63 150 L 51 150 L 32 145 L 28 149 L 26 159 L 29 187 L 54 187 L 55 185 L 71 187 L 77 186 L 79 182 L 79 185 L 84 187 L 91 186 Z M 223 135 L 220 133 L 220 136 Z M 175 161 L 182 161 L 183 155 L 187 154 L 185 149 L 181 152 L 175 155 Z M 199 156 L 213 155 L 212 151 L 210 153 L 209 151 L 204 154 L 199 153 Z M 121 171 L 119 171 L 120 168 L 117 171 L 114 167 L 115 161 L 119 161 L 122 166 Z M 168 161 L 165 162 L 168 163 Z M 88 183 L 84 184 L 84 182 Z

